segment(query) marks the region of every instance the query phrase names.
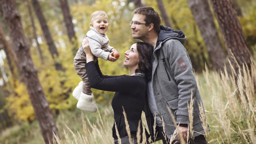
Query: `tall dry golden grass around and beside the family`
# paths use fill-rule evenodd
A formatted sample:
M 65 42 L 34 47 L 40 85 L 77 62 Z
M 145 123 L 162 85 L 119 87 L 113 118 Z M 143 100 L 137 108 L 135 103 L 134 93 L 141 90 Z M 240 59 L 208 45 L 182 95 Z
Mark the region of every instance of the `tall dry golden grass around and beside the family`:
M 195 74 L 205 108 L 204 113 L 202 103 L 198 103 L 200 120 L 205 131 L 207 131 L 207 123 L 211 129 L 209 133 L 205 133 L 205 137 L 208 143 L 256 143 L 256 63 L 252 60 L 251 72 L 246 65 L 240 67 L 238 73 L 235 73 L 233 67 L 231 67 L 231 70 L 231 75 L 227 73 L 226 69 L 219 74 L 215 71 L 209 72 L 206 67 L 203 74 Z M 193 117 L 193 107 L 191 107 L 193 103 L 195 102 L 188 102 L 191 121 L 193 120 L 191 119 Z M 88 114 L 81 112 L 79 115 L 63 111 L 57 118 L 60 138 L 55 135 L 54 143 L 113 143 L 113 110 L 108 106 L 99 109 L 99 111 L 101 113 Z M 195 131 L 192 131 L 191 121 L 188 133 L 193 134 Z M 145 125 L 147 128 L 144 113 L 142 122 L 143 127 Z M 155 125 L 156 123 L 154 123 L 154 133 L 156 134 Z M 31 129 L 36 133 L 26 132 Z M 38 126 L 29 130 L 25 131 L 25 133 L 28 133 L 26 135 L 16 133 L 13 137 L 9 135 L 7 138 L 0 138 L 0 143 L 42 142 Z M 177 133 L 178 131 L 175 130 L 172 137 L 169 138 L 169 142 L 174 140 Z M 144 137 L 140 139 L 145 143 Z M 189 139 L 186 141 L 189 141 Z M 158 141 L 156 143 L 162 142 Z

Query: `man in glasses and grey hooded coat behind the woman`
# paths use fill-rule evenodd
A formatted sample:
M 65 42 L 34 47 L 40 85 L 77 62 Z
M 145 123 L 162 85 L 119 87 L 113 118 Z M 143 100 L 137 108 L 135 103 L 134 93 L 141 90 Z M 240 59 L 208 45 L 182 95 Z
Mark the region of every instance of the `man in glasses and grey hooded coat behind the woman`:
M 184 139 L 187 141 L 187 127 L 189 123 L 188 103 L 191 92 L 193 95 L 193 131 L 194 141 L 190 143 L 207 143 L 204 136 L 202 122 L 199 118 L 198 103 L 202 103 L 192 64 L 183 44 L 185 35 L 182 31 L 175 31 L 161 26 L 161 17 L 152 7 L 139 7 L 133 11 L 130 22 L 133 38 L 140 39 L 154 47 L 152 55 L 152 79 L 148 83 L 148 104 L 151 120 L 156 115 L 157 132 L 163 143 L 168 142 L 176 129 L 168 111 L 169 107 L 175 117 L 179 135 L 174 141 Z M 165 123 L 165 132 L 163 130 Z M 154 141 L 152 121 L 147 123 L 150 129 L 151 140 Z M 208 126 L 208 130 L 209 126 Z M 166 135 L 163 135 L 166 133 Z M 166 136 L 166 138 L 165 138 Z M 159 140 L 159 137 L 155 140 Z M 167 142 L 166 142 L 167 141 Z

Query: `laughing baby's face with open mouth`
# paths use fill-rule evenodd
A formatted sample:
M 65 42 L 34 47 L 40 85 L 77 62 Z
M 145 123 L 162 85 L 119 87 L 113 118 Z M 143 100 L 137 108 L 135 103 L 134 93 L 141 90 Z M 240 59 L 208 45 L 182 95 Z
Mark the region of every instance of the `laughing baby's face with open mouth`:
M 90 26 L 94 27 L 94 29 L 96 29 L 100 34 L 105 34 L 109 27 L 109 22 L 107 21 L 106 16 L 96 15 L 92 18 Z

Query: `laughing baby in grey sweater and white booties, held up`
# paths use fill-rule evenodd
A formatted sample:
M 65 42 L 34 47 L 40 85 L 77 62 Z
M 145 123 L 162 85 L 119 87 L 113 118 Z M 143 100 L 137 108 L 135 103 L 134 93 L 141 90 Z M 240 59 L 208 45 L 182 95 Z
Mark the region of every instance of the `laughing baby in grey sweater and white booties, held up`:
M 97 61 L 97 58 L 102 58 L 106 61 L 109 60 L 112 62 L 117 60 L 116 58 L 112 57 L 113 51 L 116 50 L 109 46 L 109 39 L 105 34 L 108 27 L 109 22 L 105 11 L 95 11 L 91 14 L 91 30 L 87 32 L 86 38 L 89 40 L 91 52 L 93 55 L 95 55 L 94 62 Z M 93 99 L 85 64 L 86 55 L 81 45 L 74 58 L 74 67 L 75 72 L 82 78 L 83 81 L 79 82 L 78 86 L 74 89 L 73 96 L 78 100 L 77 108 L 95 113 L 98 109 L 97 103 Z

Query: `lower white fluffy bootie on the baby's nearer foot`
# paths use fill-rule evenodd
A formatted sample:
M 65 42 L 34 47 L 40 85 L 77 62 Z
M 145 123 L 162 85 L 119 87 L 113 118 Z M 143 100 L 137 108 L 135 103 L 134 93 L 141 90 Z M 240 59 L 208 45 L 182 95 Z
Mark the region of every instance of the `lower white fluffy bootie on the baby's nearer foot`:
M 93 94 L 87 95 L 82 92 L 77 102 L 77 108 L 89 113 L 96 113 L 98 107 L 93 99 Z

